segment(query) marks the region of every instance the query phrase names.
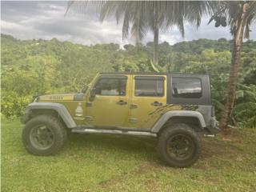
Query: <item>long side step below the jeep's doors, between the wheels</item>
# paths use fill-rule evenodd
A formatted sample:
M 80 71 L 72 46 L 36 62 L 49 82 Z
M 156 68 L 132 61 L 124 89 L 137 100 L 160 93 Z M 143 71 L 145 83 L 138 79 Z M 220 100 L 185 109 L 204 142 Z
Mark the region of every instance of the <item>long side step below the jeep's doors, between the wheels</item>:
M 74 128 L 71 130 L 73 133 L 79 134 L 129 134 L 137 136 L 148 136 L 157 137 L 157 134 L 146 132 L 146 131 L 134 131 L 134 130 L 98 130 L 98 129 L 88 129 L 88 128 Z

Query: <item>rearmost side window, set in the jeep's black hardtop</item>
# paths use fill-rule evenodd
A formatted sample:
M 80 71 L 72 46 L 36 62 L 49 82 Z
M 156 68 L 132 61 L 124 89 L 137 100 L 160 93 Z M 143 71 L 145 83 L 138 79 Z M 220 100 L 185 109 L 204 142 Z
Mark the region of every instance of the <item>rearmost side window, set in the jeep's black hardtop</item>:
M 174 98 L 201 98 L 202 82 L 200 78 L 172 78 Z

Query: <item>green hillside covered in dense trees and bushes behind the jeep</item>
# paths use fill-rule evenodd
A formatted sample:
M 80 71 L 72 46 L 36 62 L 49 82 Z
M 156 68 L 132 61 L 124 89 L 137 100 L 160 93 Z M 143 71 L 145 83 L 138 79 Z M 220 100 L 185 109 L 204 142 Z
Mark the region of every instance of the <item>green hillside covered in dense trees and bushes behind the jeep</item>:
M 78 92 L 101 71 L 152 71 L 153 44 L 136 46 L 71 42 L 18 40 L 1 34 L 2 114 L 22 114 L 32 95 Z M 217 116 L 226 98 L 232 41 L 199 39 L 159 46 L 158 68 L 166 72 L 208 73 Z M 242 47 L 242 67 L 234 118 L 240 126 L 256 126 L 256 42 Z

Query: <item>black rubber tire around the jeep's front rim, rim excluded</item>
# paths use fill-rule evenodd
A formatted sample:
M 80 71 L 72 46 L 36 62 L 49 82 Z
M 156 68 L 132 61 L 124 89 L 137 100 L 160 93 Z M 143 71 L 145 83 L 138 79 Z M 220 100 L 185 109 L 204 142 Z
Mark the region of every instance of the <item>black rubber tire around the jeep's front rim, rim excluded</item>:
M 30 134 L 35 126 L 45 125 L 47 126 L 52 134 L 54 135 L 53 144 L 50 148 L 46 150 L 38 149 L 33 146 L 30 140 Z M 26 148 L 26 150 L 30 154 L 35 154 L 39 156 L 48 156 L 51 154 L 56 154 L 59 150 L 64 146 L 64 142 L 66 141 L 66 128 L 63 126 L 62 122 L 51 115 L 38 115 L 29 122 L 26 122 L 26 126 L 22 130 L 22 142 Z

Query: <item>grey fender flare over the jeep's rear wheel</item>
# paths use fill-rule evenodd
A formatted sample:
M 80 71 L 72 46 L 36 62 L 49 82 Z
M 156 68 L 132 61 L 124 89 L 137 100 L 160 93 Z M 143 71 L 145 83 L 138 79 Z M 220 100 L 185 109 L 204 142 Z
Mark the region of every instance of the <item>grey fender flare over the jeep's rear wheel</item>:
M 202 127 L 206 127 L 205 119 L 203 118 L 202 114 L 198 111 L 191 111 L 191 110 L 172 110 L 168 111 L 162 115 L 161 118 L 158 119 L 151 129 L 151 132 L 158 133 L 158 131 L 162 128 L 162 126 L 172 117 L 192 117 L 198 118 L 198 121 Z

